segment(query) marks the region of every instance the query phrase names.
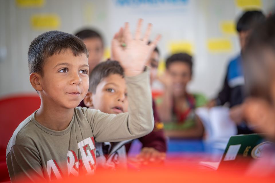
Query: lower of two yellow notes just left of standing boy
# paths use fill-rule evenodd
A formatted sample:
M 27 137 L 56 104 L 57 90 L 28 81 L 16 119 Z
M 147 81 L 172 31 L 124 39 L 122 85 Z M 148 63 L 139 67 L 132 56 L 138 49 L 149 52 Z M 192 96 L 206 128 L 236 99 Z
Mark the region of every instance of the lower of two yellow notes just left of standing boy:
M 211 38 L 207 40 L 207 48 L 210 52 L 232 51 L 232 41 L 227 38 Z

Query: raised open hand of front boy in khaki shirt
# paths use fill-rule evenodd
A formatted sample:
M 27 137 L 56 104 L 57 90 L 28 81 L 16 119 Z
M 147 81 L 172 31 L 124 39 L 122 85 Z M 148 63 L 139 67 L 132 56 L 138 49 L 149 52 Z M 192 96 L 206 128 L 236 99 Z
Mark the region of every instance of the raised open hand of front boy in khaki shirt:
M 131 35 L 129 23 L 125 23 L 124 28 L 121 27 L 112 40 L 111 59 L 119 61 L 127 76 L 143 72 L 144 66 L 161 38 L 161 35 L 158 35 L 148 45 L 152 24 L 148 24 L 144 38 L 141 39 L 142 22 L 142 19 L 138 20 L 134 37 Z

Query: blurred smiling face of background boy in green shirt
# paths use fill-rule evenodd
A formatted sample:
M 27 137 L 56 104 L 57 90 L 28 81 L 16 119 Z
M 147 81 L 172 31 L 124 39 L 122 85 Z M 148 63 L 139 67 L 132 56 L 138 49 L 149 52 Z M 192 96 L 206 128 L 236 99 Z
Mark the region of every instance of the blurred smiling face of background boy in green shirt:
M 181 61 L 173 62 L 167 68 L 172 79 L 173 95 L 182 96 L 186 92 L 186 85 L 191 80 L 191 70 L 187 63 Z

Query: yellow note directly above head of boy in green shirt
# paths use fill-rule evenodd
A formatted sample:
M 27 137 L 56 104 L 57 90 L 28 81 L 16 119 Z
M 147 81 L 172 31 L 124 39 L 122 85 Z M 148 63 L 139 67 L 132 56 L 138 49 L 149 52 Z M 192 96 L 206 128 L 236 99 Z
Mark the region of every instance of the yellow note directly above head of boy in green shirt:
M 193 45 L 190 41 L 170 41 L 168 47 L 172 54 L 185 52 L 192 55 L 193 53 Z

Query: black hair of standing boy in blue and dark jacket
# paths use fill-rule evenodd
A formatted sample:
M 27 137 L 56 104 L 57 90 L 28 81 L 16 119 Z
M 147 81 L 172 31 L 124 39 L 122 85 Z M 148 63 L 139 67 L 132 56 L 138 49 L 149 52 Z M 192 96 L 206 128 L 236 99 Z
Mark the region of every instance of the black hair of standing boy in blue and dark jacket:
M 246 11 L 237 22 L 237 31 L 241 32 L 251 30 L 264 19 L 265 16 L 262 11 Z

